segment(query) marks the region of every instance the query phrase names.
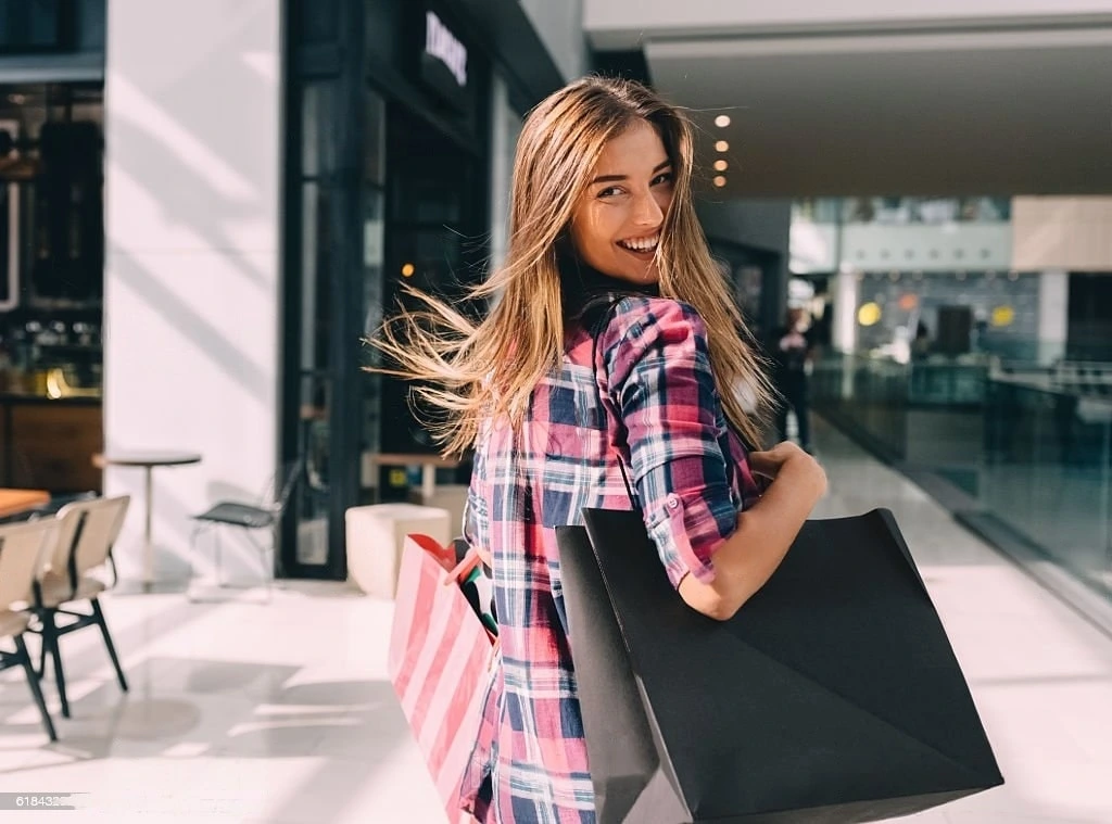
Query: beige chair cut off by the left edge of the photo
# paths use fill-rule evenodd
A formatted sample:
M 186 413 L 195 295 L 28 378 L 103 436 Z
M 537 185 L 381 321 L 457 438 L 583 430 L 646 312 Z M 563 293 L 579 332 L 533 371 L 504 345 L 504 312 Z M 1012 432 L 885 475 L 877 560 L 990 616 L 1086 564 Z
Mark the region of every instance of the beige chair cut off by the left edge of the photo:
M 16 644 L 14 653 L 0 649 L 0 671 L 13 666 L 23 667 L 27 685 L 31 688 L 50 741 L 58 741 L 58 734 L 50 713 L 47 712 L 39 676 L 31 665 L 23 633 L 31 622 L 31 616 L 26 610 L 29 605 L 28 595 L 57 535 L 58 524 L 54 520 L 0 526 L 0 638 L 11 638 Z

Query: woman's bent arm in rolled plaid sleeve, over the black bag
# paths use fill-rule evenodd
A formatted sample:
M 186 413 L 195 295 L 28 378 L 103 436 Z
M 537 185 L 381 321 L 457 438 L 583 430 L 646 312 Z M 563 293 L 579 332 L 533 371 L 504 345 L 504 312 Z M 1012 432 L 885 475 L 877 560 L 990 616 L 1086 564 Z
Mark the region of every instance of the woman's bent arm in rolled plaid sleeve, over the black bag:
M 773 480 L 738 516 L 702 318 L 678 301 L 628 299 L 600 342 L 631 476 L 668 578 L 694 609 L 729 618 L 784 558 L 825 474 L 793 444 L 752 453 L 751 468 Z

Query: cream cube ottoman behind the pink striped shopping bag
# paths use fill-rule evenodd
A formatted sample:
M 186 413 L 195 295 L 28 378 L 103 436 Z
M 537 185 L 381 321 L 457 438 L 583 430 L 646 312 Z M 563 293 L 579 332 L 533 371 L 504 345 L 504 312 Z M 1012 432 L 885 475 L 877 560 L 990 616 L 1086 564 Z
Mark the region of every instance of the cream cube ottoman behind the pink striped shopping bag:
M 414 504 L 354 506 L 345 513 L 348 579 L 367 595 L 393 598 L 398 585 L 401 547 L 411 533 L 447 546 L 451 539 L 447 509 Z

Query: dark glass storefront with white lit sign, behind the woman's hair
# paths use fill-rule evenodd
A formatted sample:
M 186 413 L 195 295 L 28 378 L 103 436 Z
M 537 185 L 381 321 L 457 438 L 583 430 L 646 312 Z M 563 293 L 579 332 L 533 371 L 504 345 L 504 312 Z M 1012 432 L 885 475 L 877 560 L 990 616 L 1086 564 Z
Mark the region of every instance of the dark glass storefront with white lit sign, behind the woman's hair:
M 306 474 L 280 566 L 342 577 L 345 510 L 411 480 L 375 457 L 435 453 L 408 387 L 361 369 L 375 357 L 361 340 L 404 285 L 456 300 L 483 277 L 495 110 L 506 98 L 522 113 L 562 78 L 514 0 L 288 13 L 281 448 Z

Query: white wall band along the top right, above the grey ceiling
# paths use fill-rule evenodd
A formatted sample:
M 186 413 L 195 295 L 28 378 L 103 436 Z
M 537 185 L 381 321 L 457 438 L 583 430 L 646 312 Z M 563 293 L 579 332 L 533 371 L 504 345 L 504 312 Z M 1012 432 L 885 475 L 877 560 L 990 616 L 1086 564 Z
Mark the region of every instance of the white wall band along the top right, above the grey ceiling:
M 555 3 L 554 3 L 555 4 Z M 1112 14 L 1112 0 L 584 0 L 584 29 L 599 48 L 633 48 L 662 31 L 723 34 L 738 31 L 867 29 L 939 23 L 1033 22 Z

